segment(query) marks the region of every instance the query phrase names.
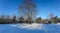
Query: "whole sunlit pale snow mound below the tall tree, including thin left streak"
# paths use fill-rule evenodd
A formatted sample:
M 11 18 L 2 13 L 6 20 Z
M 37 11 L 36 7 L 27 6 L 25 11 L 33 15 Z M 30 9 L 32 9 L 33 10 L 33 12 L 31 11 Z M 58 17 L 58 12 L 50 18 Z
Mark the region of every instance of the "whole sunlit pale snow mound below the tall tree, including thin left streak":
M 32 30 L 35 30 L 35 29 L 41 30 L 43 24 L 37 24 L 37 23 L 27 24 L 27 23 L 22 23 L 22 24 L 17 24 L 17 25 L 12 25 L 12 26 L 19 27 L 19 28 L 25 28 L 25 29 L 32 29 Z

